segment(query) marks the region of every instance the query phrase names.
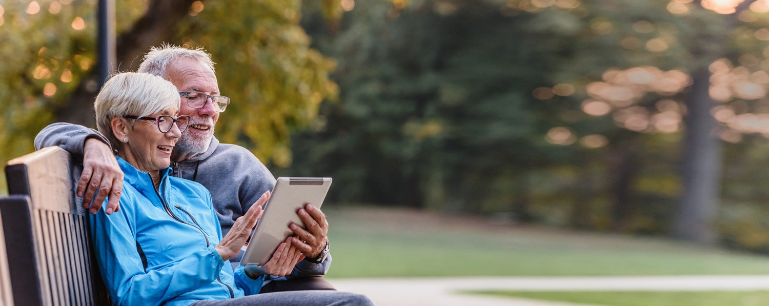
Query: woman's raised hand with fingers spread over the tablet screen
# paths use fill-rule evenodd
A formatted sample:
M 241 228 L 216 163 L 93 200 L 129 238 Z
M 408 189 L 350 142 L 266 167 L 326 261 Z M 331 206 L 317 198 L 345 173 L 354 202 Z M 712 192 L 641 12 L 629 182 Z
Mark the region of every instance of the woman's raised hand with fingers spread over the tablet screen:
M 251 230 L 254 229 L 256 221 L 261 217 L 262 205 L 270 198 L 270 191 L 261 195 L 251 208 L 248 208 L 245 215 L 235 220 L 235 224 L 232 225 L 230 231 L 225 235 L 225 238 L 221 238 L 221 242 L 214 247 L 219 252 L 221 259 L 227 261 L 231 258 L 235 258 L 243 248 L 246 239 L 251 235 Z

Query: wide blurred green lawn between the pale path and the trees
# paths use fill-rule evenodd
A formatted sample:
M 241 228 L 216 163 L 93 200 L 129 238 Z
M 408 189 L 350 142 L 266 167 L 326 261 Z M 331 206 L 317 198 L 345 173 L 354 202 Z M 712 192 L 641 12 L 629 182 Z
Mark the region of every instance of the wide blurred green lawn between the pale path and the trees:
M 329 203 L 329 278 L 769 274 L 769 257 L 661 238 Z

